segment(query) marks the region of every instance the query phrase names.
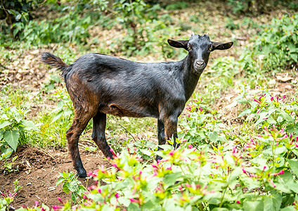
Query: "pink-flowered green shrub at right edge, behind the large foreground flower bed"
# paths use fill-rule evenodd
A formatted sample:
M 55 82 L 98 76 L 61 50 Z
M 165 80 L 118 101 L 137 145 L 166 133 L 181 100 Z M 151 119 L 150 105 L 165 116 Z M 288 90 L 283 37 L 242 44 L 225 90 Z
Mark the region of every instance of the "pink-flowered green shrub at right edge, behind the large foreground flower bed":
M 235 98 L 238 103 L 247 103 L 249 108 L 238 117 L 247 115 L 247 121 L 253 121 L 254 127 L 285 129 L 290 134 L 298 134 L 298 101 L 285 96 L 273 96 L 268 90 L 248 92 L 241 85 L 241 94 Z M 248 97 L 250 96 L 250 98 Z M 254 99 L 252 100 L 252 96 Z

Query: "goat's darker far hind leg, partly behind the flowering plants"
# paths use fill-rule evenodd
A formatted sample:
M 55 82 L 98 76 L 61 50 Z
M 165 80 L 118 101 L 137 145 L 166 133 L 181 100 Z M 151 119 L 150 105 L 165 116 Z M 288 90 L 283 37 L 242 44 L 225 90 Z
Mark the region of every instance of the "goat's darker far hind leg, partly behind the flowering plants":
M 112 153 L 110 151 L 110 146 L 105 139 L 105 124 L 107 120 L 107 115 L 105 113 L 98 112 L 95 117 L 93 117 L 93 133 L 92 139 L 97 144 L 98 148 L 103 152 L 105 158 L 112 158 Z

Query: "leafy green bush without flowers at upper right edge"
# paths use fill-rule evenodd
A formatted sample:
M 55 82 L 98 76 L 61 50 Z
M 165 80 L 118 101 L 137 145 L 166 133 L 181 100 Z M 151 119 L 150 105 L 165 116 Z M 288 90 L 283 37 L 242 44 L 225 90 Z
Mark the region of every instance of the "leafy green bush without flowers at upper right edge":
M 254 39 L 252 49 L 240 56 L 242 69 L 249 72 L 259 70 L 285 70 L 296 68 L 298 59 L 297 14 L 273 18 L 260 35 Z

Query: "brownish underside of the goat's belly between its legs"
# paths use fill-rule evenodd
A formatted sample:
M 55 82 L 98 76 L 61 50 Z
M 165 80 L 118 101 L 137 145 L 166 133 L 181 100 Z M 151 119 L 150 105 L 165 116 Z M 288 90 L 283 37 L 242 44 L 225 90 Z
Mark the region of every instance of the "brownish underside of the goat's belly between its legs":
M 126 108 L 124 106 L 112 103 L 108 106 L 100 106 L 101 113 L 115 115 L 119 117 L 158 117 L 159 113 L 154 108 Z

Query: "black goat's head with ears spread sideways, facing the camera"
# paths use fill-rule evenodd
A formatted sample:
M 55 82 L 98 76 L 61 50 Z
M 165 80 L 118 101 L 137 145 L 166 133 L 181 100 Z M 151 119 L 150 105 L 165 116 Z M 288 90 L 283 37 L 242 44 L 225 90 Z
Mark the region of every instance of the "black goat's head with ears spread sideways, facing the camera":
M 188 40 L 174 41 L 168 39 L 169 45 L 175 48 L 183 48 L 188 51 L 191 70 L 195 75 L 201 75 L 202 71 L 206 68 L 211 51 L 226 50 L 233 46 L 233 41 L 221 43 L 210 41 L 208 34 L 200 36 L 199 34 L 191 35 Z

